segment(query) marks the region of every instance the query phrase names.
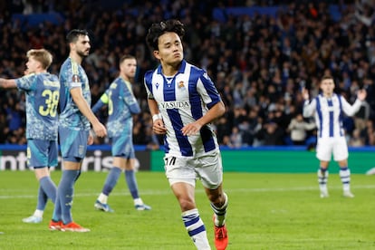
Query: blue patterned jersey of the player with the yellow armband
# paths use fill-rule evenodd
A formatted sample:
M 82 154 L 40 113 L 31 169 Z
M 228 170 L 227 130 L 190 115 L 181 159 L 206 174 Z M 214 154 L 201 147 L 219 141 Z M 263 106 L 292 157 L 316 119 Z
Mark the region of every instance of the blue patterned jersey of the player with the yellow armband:
M 126 82 L 122 77 L 116 78 L 92 107 L 92 111 L 99 111 L 104 104 L 108 104 L 108 137 L 117 137 L 123 132 L 131 135 L 132 114 L 140 112 L 137 99 L 131 91 L 131 83 Z

